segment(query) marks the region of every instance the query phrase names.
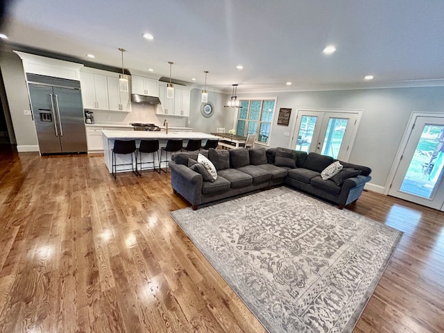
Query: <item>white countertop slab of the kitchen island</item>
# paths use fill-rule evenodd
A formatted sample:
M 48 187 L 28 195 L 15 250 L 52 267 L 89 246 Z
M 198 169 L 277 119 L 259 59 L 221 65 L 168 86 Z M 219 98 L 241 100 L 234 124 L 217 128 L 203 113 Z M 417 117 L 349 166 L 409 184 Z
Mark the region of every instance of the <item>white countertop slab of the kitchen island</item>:
M 174 132 L 169 133 L 145 130 L 102 130 L 103 136 L 108 139 L 219 139 L 211 134 L 200 132 Z

